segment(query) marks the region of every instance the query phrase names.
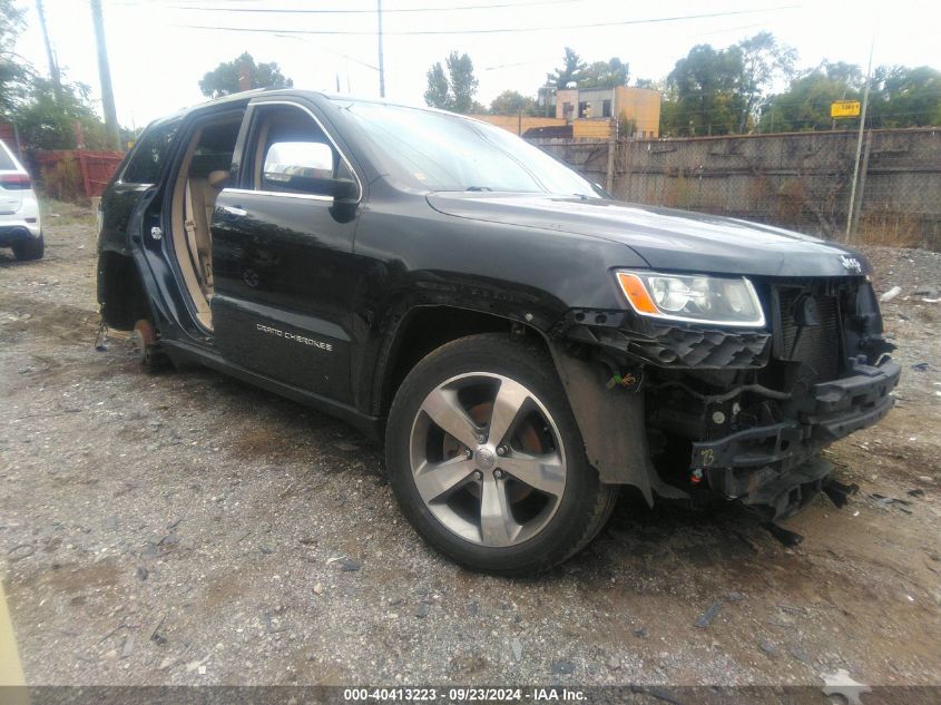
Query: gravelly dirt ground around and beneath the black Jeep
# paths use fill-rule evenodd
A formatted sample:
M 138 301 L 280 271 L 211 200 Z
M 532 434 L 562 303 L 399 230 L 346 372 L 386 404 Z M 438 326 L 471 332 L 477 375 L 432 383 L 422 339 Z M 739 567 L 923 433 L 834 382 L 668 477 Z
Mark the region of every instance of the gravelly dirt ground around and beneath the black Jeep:
M 343 423 L 96 352 L 94 219 L 58 215 L 43 261 L 0 251 L 0 571 L 29 683 L 941 684 L 941 255 L 866 251 L 902 287 L 899 403 L 829 451 L 861 491 L 788 521 L 800 547 L 631 496 L 508 580 L 422 544 Z

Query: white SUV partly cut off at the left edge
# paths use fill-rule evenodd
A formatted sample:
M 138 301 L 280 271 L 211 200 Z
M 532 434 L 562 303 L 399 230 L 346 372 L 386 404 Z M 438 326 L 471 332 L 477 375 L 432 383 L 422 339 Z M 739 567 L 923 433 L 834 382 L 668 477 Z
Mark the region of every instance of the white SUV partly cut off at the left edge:
M 39 202 L 29 174 L 0 139 L 0 247 L 12 247 L 17 260 L 42 257 Z

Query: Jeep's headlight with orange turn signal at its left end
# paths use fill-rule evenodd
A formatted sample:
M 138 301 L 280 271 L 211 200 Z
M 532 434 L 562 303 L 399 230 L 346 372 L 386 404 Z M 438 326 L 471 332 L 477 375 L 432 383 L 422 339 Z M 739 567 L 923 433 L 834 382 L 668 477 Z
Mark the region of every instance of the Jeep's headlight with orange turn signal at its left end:
M 714 325 L 764 327 L 755 287 L 744 276 L 617 272 L 618 284 L 640 315 Z

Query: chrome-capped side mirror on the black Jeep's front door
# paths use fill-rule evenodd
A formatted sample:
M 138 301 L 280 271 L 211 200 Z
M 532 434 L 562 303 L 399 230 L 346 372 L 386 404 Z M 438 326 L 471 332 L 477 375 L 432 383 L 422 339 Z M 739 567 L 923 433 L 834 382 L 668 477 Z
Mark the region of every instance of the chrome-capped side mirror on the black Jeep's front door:
M 262 185 L 336 199 L 355 195 L 356 185 L 334 176 L 334 151 L 324 143 L 280 141 L 268 147 Z

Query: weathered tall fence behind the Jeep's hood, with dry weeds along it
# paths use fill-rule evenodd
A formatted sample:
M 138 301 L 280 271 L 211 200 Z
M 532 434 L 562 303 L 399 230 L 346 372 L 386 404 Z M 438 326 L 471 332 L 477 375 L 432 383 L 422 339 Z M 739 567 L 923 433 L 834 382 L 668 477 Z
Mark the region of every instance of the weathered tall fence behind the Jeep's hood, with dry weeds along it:
M 575 141 L 533 139 L 617 198 L 855 244 L 941 249 L 941 129 L 870 130 L 853 224 L 855 131 Z

